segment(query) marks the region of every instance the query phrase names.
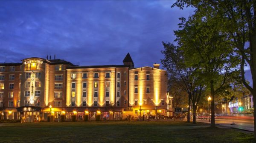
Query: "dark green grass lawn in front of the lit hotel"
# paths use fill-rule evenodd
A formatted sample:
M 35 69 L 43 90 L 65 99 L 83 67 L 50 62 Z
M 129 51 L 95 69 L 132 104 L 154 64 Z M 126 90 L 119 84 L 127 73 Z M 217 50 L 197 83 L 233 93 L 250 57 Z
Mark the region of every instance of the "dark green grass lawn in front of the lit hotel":
M 0 142 L 253 142 L 253 134 L 181 121 L 9 123 Z

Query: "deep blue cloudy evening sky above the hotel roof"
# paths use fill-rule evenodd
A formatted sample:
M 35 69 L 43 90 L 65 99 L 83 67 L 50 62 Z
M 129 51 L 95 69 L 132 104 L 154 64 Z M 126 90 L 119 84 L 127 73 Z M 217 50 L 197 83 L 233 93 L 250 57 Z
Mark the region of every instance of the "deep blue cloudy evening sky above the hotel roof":
M 175 1 L 0 1 L 0 62 L 56 54 L 79 65 L 135 67 L 163 59 L 162 41 L 173 42 L 179 17 L 192 8 Z

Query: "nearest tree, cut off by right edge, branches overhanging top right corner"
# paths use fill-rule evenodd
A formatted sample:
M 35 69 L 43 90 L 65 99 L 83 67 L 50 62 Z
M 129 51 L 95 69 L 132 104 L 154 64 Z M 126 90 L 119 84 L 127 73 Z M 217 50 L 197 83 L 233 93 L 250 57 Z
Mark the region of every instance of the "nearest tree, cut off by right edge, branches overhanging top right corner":
M 177 0 L 173 6 L 181 9 L 185 6 L 194 7 L 194 15 L 214 20 L 221 28 L 221 32 L 230 36 L 231 40 L 223 42 L 233 45 L 236 53 L 242 57 L 241 79 L 245 87 L 253 94 L 253 102 L 256 103 L 256 1 Z M 252 86 L 244 78 L 245 62 L 250 66 Z M 256 112 L 256 104 L 253 104 L 253 109 Z M 256 114 L 254 114 L 254 128 L 256 128 Z M 254 137 L 256 138 L 256 132 Z

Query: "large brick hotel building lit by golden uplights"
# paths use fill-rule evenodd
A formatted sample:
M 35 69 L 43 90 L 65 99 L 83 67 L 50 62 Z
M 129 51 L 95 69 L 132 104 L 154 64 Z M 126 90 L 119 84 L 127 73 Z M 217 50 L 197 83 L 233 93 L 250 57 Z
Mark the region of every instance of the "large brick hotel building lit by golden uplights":
M 167 72 L 134 68 L 129 53 L 123 65 L 77 66 L 61 59 L 27 58 L 0 64 L 1 119 L 36 122 L 48 115 L 90 120 L 171 115 Z

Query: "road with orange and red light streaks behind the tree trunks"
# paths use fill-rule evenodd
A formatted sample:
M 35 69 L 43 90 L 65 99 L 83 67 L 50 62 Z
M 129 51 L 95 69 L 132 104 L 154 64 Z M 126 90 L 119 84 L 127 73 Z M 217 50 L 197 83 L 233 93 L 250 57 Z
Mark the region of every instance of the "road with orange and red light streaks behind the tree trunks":
M 198 122 L 210 123 L 209 120 L 199 120 Z M 231 125 L 232 123 L 235 125 Z M 244 120 L 244 119 L 230 119 L 230 118 L 216 118 L 215 124 L 219 126 L 226 126 L 230 128 L 242 129 L 250 132 L 254 132 L 254 122 L 253 120 Z

